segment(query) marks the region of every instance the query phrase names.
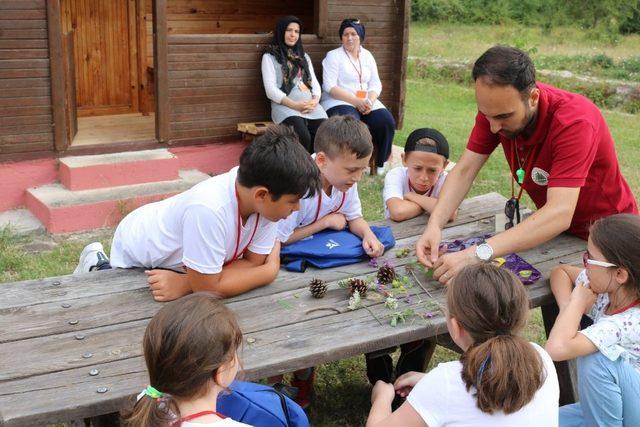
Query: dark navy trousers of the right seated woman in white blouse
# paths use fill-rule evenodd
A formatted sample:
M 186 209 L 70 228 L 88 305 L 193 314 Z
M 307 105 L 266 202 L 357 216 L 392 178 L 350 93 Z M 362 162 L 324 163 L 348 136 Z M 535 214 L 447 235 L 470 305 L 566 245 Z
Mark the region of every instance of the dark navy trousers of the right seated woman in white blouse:
M 373 145 L 377 148 L 376 166 L 384 166 L 384 162 L 389 160 L 391 155 L 391 146 L 393 144 L 393 136 L 396 133 L 396 121 L 386 108 L 371 111 L 369 114 L 360 114 L 360 112 L 351 105 L 336 105 L 329 108 L 327 115 L 331 116 L 353 116 L 361 120 L 369 127 Z

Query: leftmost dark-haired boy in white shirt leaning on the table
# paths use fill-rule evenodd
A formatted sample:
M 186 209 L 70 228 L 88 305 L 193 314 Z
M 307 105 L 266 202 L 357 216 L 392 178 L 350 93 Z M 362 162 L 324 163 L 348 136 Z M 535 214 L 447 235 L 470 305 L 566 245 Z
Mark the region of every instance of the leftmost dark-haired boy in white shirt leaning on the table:
M 276 222 L 319 184 L 293 131 L 270 127 L 244 150 L 239 167 L 127 215 L 116 229 L 110 266 L 150 269 L 156 301 L 197 291 L 228 297 L 265 285 L 280 268 Z M 92 243 L 76 273 L 109 268 L 105 260 Z

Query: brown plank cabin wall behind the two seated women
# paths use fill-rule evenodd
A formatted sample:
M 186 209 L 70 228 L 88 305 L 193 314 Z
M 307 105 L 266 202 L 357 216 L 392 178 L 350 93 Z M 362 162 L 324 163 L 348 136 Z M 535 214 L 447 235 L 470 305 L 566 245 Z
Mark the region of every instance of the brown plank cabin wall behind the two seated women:
M 327 51 L 340 46 L 340 22 L 346 17 L 362 20 L 367 34 L 364 46 L 376 58 L 383 84 L 380 100 L 396 120 L 401 114 L 397 88 L 402 68 L 404 4 L 403 0 L 329 0 L 326 37 L 303 39 L 316 75 L 322 79 L 322 59 Z M 171 140 L 237 137 L 238 122 L 270 120 L 260 73 L 261 51 L 269 40 L 267 36 L 170 33 Z

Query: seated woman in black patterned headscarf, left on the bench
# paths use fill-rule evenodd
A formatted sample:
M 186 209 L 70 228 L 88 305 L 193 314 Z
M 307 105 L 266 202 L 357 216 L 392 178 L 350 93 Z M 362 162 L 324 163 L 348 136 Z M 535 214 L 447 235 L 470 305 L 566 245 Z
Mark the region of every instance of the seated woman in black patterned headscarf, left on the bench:
M 313 139 L 327 114 L 318 104 L 320 84 L 311 58 L 304 53 L 295 16 L 285 16 L 276 24 L 271 45 L 262 56 L 262 81 L 271 100 L 271 120 L 292 126 L 300 143 L 313 153 Z

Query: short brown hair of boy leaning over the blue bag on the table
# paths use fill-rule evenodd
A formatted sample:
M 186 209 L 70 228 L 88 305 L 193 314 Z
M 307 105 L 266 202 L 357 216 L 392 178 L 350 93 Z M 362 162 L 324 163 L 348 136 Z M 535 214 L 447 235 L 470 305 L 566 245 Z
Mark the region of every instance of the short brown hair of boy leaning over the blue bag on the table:
M 313 148 L 330 159 L 340 153 L 354 153 L 362 159 L 373 151 L 373 142 L 369 128 L 360 120 L 353 116 L 333 116 L 318 128 Z

